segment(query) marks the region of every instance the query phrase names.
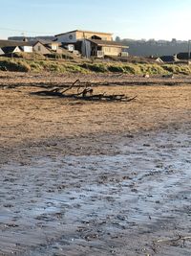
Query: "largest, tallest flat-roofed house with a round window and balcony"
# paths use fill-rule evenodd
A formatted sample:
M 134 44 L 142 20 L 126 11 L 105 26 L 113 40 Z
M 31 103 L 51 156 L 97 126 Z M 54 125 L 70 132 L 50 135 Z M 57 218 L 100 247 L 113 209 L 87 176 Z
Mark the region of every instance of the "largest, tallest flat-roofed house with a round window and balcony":
M 111 33 L 75 30 L 55 35 L 56 41 L 61 42 L 69 51 L 79 51 L 86 58 L 105 56 L 122 56 L 128 46 L 113 41 Z

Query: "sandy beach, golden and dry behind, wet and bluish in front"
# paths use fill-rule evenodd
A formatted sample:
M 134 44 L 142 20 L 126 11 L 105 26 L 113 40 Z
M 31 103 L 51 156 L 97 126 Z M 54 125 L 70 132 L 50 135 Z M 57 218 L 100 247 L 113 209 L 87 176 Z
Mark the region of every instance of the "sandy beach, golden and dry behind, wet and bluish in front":
M 0 75 L 0 255 L 190 255 L 188 80 L 98 86 L 138 98 L 87 103 Z

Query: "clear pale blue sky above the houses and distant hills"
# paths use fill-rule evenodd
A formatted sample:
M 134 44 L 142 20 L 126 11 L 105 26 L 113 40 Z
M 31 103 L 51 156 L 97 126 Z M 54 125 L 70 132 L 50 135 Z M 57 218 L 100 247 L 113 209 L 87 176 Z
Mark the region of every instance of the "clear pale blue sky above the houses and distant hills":
M 121 38 L 187 40 L 190 10 L 191 0 L 0 0 L 0 38 L 80 29 Z

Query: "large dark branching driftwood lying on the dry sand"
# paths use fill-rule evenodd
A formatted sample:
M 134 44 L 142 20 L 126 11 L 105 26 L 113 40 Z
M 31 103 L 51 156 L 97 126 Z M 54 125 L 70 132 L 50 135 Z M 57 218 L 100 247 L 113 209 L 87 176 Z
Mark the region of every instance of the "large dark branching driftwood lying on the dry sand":
M 125 94 L 112 94 L 106 95 L 105 92 L 101 94 L 94 94 L 94 89 L 92 88 L 92 84 L 87 82 L 85 85 L 78 85 L 76 83 L 80 83 L 79 80 L 76 80 L 70 85 L 68 88 L 59 88 L 55 87 L 52 90 L 43 90 L 32 92 L 32 95 L 39 96 L 51 96 L 51 97 L 60 97 L 60 98 L 72 98 L 75 100 L 85 100 L 85 101 L 107 101 L 107 102 L 130 102 L 137 98 L 135 97 L 127 97 Z M 70 90 L 76 89 L 75 93 L 70 93 Z

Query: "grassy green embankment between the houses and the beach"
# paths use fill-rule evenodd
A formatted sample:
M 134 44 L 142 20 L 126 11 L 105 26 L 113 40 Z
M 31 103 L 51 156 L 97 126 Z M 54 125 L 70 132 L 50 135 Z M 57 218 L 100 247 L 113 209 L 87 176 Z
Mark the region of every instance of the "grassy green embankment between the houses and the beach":
M 118 61 L 86 61 L 84 59 L 39 59 L 39 58 L 0 58 L 0 70 L 20 72 L 57 73 L 124 73 L 129 75 L 191 75 L 191 66 L 186 64 L 129 63 Z

